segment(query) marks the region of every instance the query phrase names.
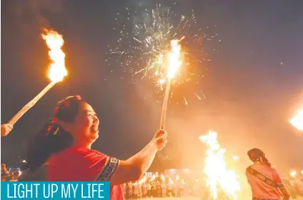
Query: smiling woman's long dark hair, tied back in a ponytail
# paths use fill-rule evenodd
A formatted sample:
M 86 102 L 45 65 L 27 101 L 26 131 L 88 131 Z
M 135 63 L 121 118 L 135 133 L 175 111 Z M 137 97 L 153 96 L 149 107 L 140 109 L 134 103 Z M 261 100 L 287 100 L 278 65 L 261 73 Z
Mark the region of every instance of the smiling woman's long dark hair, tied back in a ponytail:
M 71 134 L 62 129 L 58 122 L 74 122 L 80 103 L 80 96 L 69 96 L 58 102 L 54 109 L 54 118 L 44 125 L 29 144 L 26 164 L 22 166 L 22 169 L 29 169 L 33 172 L 44 164 L 51 154 L 56 154 L 71 146 L 73 142 Z

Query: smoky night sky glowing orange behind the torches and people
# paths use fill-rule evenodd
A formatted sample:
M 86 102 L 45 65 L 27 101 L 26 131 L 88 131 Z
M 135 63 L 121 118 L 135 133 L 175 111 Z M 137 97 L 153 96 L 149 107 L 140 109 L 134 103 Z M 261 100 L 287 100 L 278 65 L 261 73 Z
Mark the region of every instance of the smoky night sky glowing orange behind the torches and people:
M 126 159 L 152 138 L 161 104 L 144 99 L 149 91 L 142 84 L 130 84 L 122 70 L 111 72 L 104 60 L 106 46 L 118 37 L 113 29 L 116 13 L 139 3 L 152 9 L 157 2 L 1 1 L 1 124 L 49 83 L 42 26 L 64 36 L 69 70 L 66 80 L 1 138 L 2 163 L 19 164 L 27 141 L 52 116 L 56 101 L 69 95 L 81 95 L 99 115 L 101 136 L 95 149 Z M 222 40 L 213 44 L 219 52 L 210 53 L 212 61 L 198 89 L 207 98 L 169 107 L 169 158 L 189 165 L 203 161 L 204 144 L 197 136 L 213 129 L 231 154 L 245 156 L 248 149 L 259 147 L 283 169 L 302 167 L 302 133 L 288 124 L 303 106 L 302 1 L 164 2 L 177 2 L 180 15 L 185 6 L 194 9 L 201 27 L 217 25 Z M 246 164 L 247 158 L 243 160 Z

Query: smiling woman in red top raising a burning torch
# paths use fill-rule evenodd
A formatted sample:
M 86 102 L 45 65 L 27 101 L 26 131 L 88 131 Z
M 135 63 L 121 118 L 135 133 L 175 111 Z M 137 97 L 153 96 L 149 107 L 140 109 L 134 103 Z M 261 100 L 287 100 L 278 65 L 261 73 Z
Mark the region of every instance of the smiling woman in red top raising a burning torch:
M 80 96 L 59 101 L 54 118 L 31 144 L 26 168 L 35 171 L 46 161 L 47 181 L 110 181 L 111 199 L 124 199 L 121 184 L 139 179 L 167 144 L 159 130 L 152 141 L 126 161 L 91 149 L 99 137 L 99 119 Z

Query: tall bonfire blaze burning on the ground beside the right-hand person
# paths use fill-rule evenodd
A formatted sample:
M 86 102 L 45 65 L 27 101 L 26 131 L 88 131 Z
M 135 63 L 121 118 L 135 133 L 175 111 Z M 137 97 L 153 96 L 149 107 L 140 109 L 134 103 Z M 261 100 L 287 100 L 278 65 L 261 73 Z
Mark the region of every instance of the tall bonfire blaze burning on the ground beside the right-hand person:
M 221 189 L 224 195 L 237 199 L 237 191 L 240 190 L 237 174 L 227 169 L 227 164 L 224 161 L 225 150 L 220 148 L 217 133 L 209 131 L 208 135 L 200 136 L 199 139 L 209 147 L 204 172 L 207 174 L 207 186 L 212 199 L 220 198 Z

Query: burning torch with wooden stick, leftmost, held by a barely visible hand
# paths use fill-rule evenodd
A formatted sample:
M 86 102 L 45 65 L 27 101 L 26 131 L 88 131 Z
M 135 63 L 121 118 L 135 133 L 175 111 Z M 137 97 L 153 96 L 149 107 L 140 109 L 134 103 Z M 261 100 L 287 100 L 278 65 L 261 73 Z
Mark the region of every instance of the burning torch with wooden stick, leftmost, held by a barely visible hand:
M 41 34 L 42 38 L 46 41 L 47 46 L 49 46 L 49 57 L 53 61 L 51 68 L 49 70 L 49 79 L 51 83 L 46 86 L 37 96 L 34 97 L 28 104 L 26 104 L 10 121 L 8 124 L 14 125 L 21 116 L 23 116 L 26 111 L 31 109 L 32 106 L 36 104 L 39 99 L 41 99 L 44 94 L 46 94 L 49 89 L 51 89 L 57 82 L 62 81 L 64 76 L 67 75 L 65 69 L 65 54 L 61 50 L 61 46 L 64 44 L 64 40 L 60 34 L 56 31 L 45 30 L 46 34 Z

